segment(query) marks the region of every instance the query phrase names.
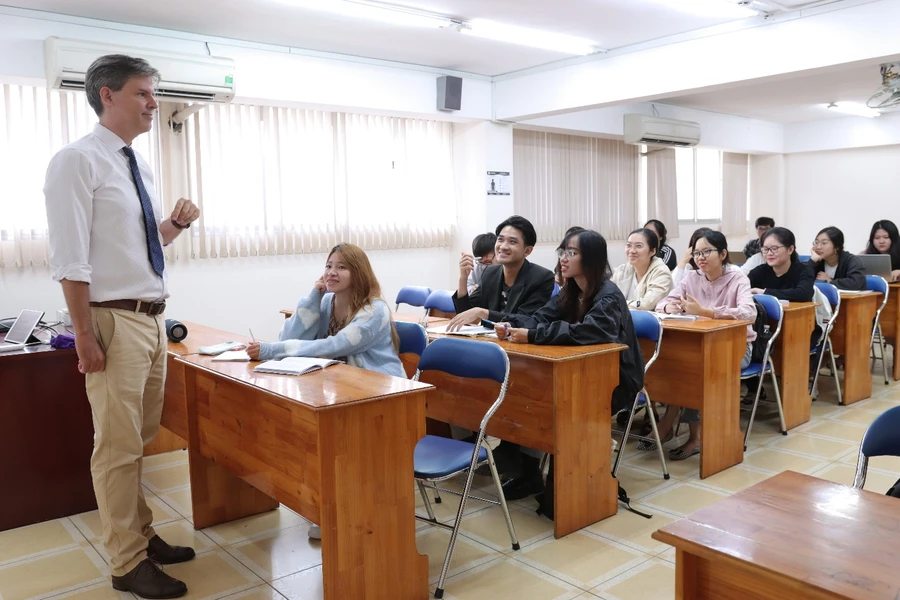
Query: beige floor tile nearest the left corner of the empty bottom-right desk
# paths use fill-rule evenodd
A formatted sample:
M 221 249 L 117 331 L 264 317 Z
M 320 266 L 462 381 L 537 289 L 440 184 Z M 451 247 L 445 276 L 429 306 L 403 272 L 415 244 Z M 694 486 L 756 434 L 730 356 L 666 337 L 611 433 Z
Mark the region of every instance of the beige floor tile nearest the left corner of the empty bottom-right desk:
M 558 540 L 547 538 L 512 556 L 582 589 L 612 579 L 651 558 L 639 550 L 579 531 Z

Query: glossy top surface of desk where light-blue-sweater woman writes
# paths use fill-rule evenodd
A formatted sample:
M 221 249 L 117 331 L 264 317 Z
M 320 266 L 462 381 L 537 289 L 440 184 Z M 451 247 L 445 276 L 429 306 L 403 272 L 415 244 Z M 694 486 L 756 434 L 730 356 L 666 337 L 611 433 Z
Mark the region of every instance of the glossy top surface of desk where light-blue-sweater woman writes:
M 176 360 L 304 404 L 312 410 L 433 388 L 425 383 L 349 365 L 334 365 L 306 375 L 275 375 L 255 373 L 253 368 L 259 362 L 212 362 L 212 358 L 193 354 L 179 356 Z

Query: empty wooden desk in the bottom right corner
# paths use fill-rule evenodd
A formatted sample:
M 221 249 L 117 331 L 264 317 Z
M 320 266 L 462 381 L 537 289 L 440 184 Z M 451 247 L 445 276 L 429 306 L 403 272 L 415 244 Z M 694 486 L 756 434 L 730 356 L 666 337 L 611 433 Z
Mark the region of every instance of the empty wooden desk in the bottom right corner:
M 900 598 L 897 499 L 785 471 L 676 521 L 678 599 Z

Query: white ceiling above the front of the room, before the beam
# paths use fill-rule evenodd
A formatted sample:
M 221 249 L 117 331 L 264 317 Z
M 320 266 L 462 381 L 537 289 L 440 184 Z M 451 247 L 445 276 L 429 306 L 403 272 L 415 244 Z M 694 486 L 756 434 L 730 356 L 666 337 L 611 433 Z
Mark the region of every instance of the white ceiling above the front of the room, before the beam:
M 697 5 L 735 0 L 396 0 L 469 20 L 490 19 L 587 38 L 604 49 L 734 20 Z M 0 0 L 8 6 L 253 42 L 500 75 L 570 55 L 462 35 L 369 22 L 300 8 L 291 0 Z M 781 0 L 795 6 L 809 0 Z

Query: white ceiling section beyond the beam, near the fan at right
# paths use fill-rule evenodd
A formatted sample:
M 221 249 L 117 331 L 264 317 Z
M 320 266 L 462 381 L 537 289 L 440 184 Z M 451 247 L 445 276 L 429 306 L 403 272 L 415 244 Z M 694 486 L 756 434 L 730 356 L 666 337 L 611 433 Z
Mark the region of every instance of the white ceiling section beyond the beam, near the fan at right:
M 885 62 L 894 59 L 884 59 Z M 762 119 L 800 123 L 841 118 L 846 114 L 826 108 L 831 102 L 865 103 L 881 85 L 879 62 L 830 68 L 809 75 L 769 79 L 711 92 L 659 99 L 665 104 Z

